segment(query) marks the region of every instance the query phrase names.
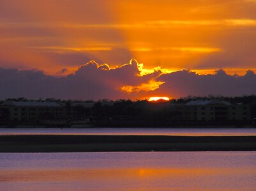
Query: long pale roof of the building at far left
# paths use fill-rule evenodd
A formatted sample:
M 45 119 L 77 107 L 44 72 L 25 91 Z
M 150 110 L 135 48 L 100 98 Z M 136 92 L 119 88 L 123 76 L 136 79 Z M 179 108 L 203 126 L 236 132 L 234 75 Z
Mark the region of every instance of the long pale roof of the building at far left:
M 60 107 L 61 104 L 50 101 L 4 101 L 1 106 L 17 107 Z

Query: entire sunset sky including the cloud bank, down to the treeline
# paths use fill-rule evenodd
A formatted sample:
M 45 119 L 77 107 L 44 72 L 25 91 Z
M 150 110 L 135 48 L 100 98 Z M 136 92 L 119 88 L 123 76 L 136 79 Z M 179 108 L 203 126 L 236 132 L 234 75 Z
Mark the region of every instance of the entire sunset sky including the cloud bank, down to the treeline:
M 0 0 L 0 99 L 256 94 L 255 50 L 255 0 Z

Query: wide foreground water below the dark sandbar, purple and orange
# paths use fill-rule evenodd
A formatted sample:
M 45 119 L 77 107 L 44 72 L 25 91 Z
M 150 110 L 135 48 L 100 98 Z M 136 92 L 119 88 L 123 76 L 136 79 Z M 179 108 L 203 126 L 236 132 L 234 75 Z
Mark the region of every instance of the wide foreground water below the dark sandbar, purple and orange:
M 256 152 L 0 153 L 0 190 L 256 190 Z

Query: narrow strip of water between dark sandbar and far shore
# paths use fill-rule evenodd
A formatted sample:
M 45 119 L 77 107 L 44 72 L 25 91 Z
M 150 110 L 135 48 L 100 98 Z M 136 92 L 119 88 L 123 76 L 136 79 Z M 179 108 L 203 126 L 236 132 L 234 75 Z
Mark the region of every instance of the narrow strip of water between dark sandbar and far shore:
M 0 135 L 4 134 L 256 136 L 256 128 L 0 128 Z

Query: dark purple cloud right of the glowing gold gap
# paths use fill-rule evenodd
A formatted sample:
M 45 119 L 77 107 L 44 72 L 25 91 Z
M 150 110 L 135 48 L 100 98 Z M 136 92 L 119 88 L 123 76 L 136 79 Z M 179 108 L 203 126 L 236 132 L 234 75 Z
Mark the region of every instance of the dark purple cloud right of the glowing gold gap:
M 250 95 L 256 94 L 256 74 L 247 71 L 245 76 L 229 75 L 222 69 L 215 74 L 199 75 L 187 70 L 163 74 L 158 80 L 165 83 L 157 92 L 172 97 L 187 95 Z

